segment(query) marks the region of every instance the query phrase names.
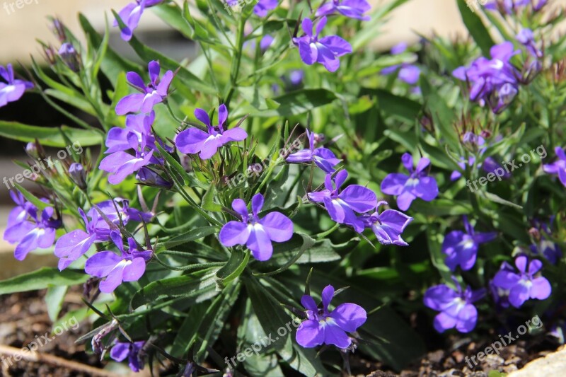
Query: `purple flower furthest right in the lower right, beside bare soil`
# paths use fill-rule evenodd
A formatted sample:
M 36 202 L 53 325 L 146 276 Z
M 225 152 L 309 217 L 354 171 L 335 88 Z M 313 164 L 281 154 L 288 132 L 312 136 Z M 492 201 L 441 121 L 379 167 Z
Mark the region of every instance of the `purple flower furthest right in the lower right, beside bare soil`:
M 525 255 L 519 255 L 515 260 L 515 266 L 519 269 L 518 274 L 502 266 L 493 278 L 494 286 L 509 290 L 509 303 L 515 308 L 519 308 L 529 298 L 544 300 L 552 291 L 545 277 L 534 277 L 543 267 L 543 263 L 540 260 L 531 260 L 527 265 L 527 262 Z

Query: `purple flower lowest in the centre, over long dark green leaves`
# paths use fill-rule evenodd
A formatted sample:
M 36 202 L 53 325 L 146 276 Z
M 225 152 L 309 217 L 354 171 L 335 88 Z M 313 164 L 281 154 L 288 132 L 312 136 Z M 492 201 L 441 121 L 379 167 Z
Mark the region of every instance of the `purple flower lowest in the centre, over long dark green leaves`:
M 301 297 L 307 319 L 296 330 L 296 342 L 302 347 L 312 348 L 328 344 L 345 349 L 352 344 L 347 332 L 356 331 L 366 322 L 366 311 L 355 303 L 341 303 L 333 311 L 328 310 L 333 296 L 334 287 L 325 286 L 320 309 L 312 296 Z

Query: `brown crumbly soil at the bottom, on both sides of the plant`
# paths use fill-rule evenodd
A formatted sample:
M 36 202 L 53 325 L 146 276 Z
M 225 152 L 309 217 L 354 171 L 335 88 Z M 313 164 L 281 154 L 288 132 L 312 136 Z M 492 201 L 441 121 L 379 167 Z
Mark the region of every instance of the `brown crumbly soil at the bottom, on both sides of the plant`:
M 69 329 L 63 332 L 40 348 L 41 354 L 49 354 L 57 358 L 71 361 L 70 365 L 56 365 L 52 362 L 44 361 L 16 361 L 13 357 L 5 361 L 9 356 L 2 352 L 4 346 L 13 349 L 22 349 L 30 342 L 41 337 L 46 332 L 52 330 L 52 323 L 47 315 L 47 307 L 44 301 L 45 291 L 25 292 L 21 294 L 11 294 L 0 296 L 0 354 L 4 359 L 1 362 L 1 376 L 77 376 L 90 377 L 93 373 L 76 368 L 81 364 L 97 369 L 104 367 L 96 355 L 87 354 L 83 344 L 76 344 L 75 341 L 84 335 L 90 328 L 88 325 L 81 325 L 76 330 Z M 76 308 L 83 307 L 81 302 L 81 291 L 72 289 L 64 303 L 62 314 Z M 456 337 L 449 339 L 451 347 L 449 350 L 439 349 L 429 352 L 399 374 L 393 373 L 385 366 L 366 361 L 359 354 L 350 360 L 350 366 L 355 376 L 369 377 L 421 377 L 421 376 L 488 376 L 490 371 L 510 373 L 521 369 L 533 359 L 543 357 L 555 350 L 553 344 L 548 342 L 538 342 L 537 344 L 527 344 L 524 340 L 517 340 L 514 344 L 504 347 L 497 355 L 488 355 L 486 359 L 477 366 L 470 368 L 466 364 L 466 355 L 474 355 L 481 352 L 490 342 L 470 342 Z M 76 362 L 78 364 L 72 364 Z M 366 371 L 373 371 L 372 373 Z M 169 371 L 171 372 L 171 371 Z M 365 372 L 365 373 L 364 373 Z M 369 374 L 367 374 L 369 373 Z

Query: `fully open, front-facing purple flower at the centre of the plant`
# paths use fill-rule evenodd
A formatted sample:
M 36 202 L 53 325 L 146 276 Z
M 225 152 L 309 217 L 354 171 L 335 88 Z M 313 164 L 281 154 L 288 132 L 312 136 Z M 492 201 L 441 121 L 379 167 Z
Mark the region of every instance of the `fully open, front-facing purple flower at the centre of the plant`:
M 246 202 L 235 199 L 232 208 L 241 217 L 238 221 L 224 224 L 219 233 L 222 245 L 246 245 L 257 260 L 269 260 L 273 253 L 272 241 L 285 242 L 293 236 L 293 222 L 280 212 L 270 212 L 260 219 L 263 195 L 252 198 L 252 213 L 248 213 Z

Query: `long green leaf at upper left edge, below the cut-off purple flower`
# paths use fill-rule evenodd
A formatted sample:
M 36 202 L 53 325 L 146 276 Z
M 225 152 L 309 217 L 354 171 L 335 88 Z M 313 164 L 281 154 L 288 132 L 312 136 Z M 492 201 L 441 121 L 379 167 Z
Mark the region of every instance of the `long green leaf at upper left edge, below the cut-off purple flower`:
M 69 139 L 81 144 L 81 146 L 93 146 L 102 142 L 102 134 L 100 132 L 67 126 L 62 126 L 61 128 Z M 56 146 L 59 148 L 68 146 L 59 131 L 59 127 L 30 126 L 28 124 L 0 120 L 0 136 L 24 142 L 37 139 L 45 146 Z

